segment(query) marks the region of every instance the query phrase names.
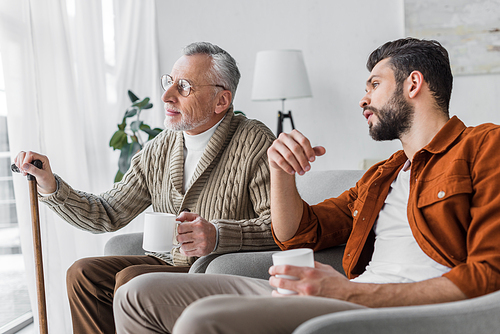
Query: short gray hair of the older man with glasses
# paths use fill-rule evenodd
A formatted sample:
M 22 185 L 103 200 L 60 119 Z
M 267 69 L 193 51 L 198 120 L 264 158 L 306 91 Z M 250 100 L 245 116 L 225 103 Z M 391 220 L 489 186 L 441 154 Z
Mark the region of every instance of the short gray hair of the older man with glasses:
M 227 51 L 209 42 L 195 42 L 184 48 L 185 56 L 197 54 L 205 54 L 212 58 L 212 70 L 208 74 L 209 79 L 214 84 L 221 85 L 231 91 L 234 99 L 241 77 L 236 60 Z

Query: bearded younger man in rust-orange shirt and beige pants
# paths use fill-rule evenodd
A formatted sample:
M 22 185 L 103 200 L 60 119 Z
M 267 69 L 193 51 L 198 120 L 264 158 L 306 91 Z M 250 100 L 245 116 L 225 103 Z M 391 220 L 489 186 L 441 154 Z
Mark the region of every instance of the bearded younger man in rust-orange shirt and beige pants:
M 402 150 L 338 198 L 312 206 L 297 193 L 295 175 L 308 172 L 325 149 L 293 131 L 268 151 L 277 243 L 315 250 L 347 243 L 348 277 L 317 262 L 273 266 L 269 282 L 147 274 L 117 291 L 117 333 L 291 333 L 327 313 L 500 290 L 500 126 L 450 119 L 453 77 L 436 41 L 388 42 L 367 67 L 360 106 L 370 134 L 398 139 Z M 175 288 L 163 292 L 168 286 Z M 274 298 L 282 295 L 273 287 L 299 296 Z

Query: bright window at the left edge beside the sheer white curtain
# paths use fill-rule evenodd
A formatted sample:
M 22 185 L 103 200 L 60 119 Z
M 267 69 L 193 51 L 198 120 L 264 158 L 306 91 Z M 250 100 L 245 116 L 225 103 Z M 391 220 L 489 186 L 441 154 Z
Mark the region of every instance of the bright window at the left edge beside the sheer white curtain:
M 7 103 L 0 54 L 0 332 L 32 322 L 10 170 Z M 9 327 L 9 328 L 7 328 Z

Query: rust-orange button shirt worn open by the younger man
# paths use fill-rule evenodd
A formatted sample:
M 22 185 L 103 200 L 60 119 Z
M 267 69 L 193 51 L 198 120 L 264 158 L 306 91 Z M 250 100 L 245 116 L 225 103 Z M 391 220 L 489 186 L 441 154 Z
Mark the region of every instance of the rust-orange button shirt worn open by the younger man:
M 360 275 L 373 253 L 374 222 L 406 160 L 398 151 L 339 197 L 304 202 L 297 233 L 278 245 L 321 250 L 347 243 L 344 270 Z M 443 276 L 468 297 L 500 290 L 500 126 L 450 119 L 412 159 L 407 214 L 418 245 L 451 268 Z

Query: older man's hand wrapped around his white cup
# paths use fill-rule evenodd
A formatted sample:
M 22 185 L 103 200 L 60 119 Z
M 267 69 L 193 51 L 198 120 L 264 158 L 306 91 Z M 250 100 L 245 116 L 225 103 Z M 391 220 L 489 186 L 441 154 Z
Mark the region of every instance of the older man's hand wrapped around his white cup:
M 177 241 L 181 244 L 181 253 L 186 256 L 204 256 L 215 248 L 217 229 L 196 213 L 183 212 L 177 217 Z

